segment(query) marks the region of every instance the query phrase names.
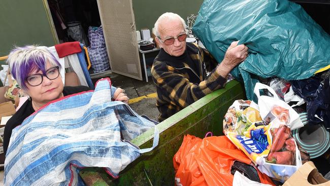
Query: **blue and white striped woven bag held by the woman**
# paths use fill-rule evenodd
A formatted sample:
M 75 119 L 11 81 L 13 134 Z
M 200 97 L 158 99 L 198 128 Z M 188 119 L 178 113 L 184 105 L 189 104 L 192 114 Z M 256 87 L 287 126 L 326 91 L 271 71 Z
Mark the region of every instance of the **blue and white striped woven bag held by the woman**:
M 83 185 L 79 169 L 104 167 L 113 177 L 158 144 L 155 124 L 122 102 L 112 102 L 110 79 L 94 91 L 56 100 L 13 130 L 5 185 Z M 129 140 L 155 127 L 153 147 Z M 122 138 L 121 138 L 122 136 Z

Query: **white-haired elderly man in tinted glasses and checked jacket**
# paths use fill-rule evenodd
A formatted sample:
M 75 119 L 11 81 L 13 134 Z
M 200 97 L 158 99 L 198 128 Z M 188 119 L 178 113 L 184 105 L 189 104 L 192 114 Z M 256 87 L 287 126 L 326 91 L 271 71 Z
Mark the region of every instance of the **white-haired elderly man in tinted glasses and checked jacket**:
M 232 69 L 248 55 L 245 45 L 233 42 L 220 65 L 210 53 L 194 43 L 186 43 L 184 20 L 174 13 L 162 14 L 154 34 L 160 51 L 151 69 L 157 89 L 156 106 L 162 121 L 193 102 L 222 88 Z M 207 71 L 212 71 L 207 75 Z

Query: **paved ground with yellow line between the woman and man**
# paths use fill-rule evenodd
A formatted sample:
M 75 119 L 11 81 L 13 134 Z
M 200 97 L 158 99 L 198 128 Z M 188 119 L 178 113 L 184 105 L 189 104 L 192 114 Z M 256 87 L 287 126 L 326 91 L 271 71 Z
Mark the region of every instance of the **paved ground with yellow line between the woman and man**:
M 157 120 L 158 109 L 156 107 L 156 88 L 151 77 L 149 82 L 111 73 L 109 76 L 113 86 L 125 89 L 129 97 L 129 106 L 140 115 L 147 115 L 153 120 Z M 98 79 L 93 79 L 96 82 Z

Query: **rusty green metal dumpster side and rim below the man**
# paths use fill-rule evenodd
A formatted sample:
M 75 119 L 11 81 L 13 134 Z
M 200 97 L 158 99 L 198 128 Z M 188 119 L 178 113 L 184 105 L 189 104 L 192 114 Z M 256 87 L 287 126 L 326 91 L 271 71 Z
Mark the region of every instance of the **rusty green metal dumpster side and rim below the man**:
M 203 138 L 207 132 L 222 135 L 222 119 L 235 100 L 245 99 L 244 87 L 230 81 L 225 88 L 212 92 L 172 117 L 160 122 L 159 144 L 142 154 L 114 179 L 102 168 L 86 168 L 80 175 L 86 185 L 174 185 L 173 157 L 186 134 Z M 152 146 L 154 130 L 131 142 L 140 148 Z

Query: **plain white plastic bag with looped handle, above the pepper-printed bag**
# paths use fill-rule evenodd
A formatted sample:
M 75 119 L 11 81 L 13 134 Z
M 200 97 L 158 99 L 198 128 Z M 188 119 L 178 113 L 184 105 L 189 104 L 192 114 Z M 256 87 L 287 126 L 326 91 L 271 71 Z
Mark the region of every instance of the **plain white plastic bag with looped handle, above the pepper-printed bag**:
M 268 89 L 273 97 L 269 96 L 260 96 L 260 89 Z M 294 111 L 287 103 L 280 100 L 273 88 L 270 86 L 267 86 L 265 84 L 256 83 L 254 87 L 254 94 L 258 98 L 258 110 L 260 112 L 260 116 L 263 120 L 269 120 L 272 121 L 276 118 L 276 113 L 274 112 L 276 110 L 276 106 L 285 108 L 288 110 L 288 116 L 285 117 L 285 122 L 288 127 L 290 127 L 291 130 L 298 129 L 304 126 L 303 122 L 301 121 L 299 114 Z

